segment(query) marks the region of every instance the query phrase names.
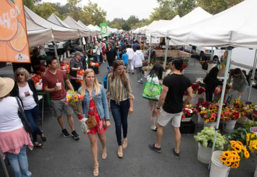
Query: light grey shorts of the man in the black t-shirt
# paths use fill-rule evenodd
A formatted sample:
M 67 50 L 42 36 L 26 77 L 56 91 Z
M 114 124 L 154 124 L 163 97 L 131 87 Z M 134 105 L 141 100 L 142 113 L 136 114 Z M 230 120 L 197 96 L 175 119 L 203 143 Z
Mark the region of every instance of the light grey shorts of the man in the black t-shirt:
M 163 109 L 160 111 L 158 123 L 162 126 L 166 126 L 167 123 L 172 119 L 172 125 L 174 127 L 180 127 L 182 112 L 177 114 L 170 114 L 165 112 Z

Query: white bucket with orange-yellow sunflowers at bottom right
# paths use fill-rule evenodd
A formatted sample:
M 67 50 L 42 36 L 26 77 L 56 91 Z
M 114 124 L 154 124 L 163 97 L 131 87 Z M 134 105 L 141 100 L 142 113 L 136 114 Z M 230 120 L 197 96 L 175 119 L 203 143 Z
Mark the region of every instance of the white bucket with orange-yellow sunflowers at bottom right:
M 249 152 L 239 141 L 231 141 L 228 151 L 215 151 L 211 157 L 210 177 L 227 177 L 230 168 L 238 168 L 243 158 L 249 158 Z

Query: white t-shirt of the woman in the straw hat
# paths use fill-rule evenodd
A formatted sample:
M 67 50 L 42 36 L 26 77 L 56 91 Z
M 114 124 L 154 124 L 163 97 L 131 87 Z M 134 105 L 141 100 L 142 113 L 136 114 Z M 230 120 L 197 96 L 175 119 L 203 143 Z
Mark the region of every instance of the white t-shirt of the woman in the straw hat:
M 18 115 L 19 105 L 15 97 L 0 101 L 0 132 L 13 131 L 23 127 Z

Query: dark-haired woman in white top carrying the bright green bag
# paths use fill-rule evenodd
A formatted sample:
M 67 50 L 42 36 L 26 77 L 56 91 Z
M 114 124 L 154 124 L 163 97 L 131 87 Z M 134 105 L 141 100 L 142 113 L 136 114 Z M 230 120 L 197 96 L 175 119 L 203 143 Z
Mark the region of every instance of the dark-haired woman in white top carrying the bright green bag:
M 147 77 L 147 81 L 148 82 L 152 82 L 155 83 L 155 84 L 162 84 L 161 83 L 161 79 L 162 79 L 162 75 L 163 75 L 163 72 L 164 72 L 164 68 L 162 67 L 162 65 L 160 65 L 159 63 L 155 64 L 153 66 L 153 68 L 151 69 L 148 77 Z M 157 127 L 156 127 L 156 117 L 157 117 L 157 114 L 155 112 L 156 108 L 158 106 L 158 102 L 156 101 L 152 101 L 152 100 L 149 100 L 148 102 L 148 108 L 150 111 L 152 111 L 152 130 L 154 131 L 157 131 Z

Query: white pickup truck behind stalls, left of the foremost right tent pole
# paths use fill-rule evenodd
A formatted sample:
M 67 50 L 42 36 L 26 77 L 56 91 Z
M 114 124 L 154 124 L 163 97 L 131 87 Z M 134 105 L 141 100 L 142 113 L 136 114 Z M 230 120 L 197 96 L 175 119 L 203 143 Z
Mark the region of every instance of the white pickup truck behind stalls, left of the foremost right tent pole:
M 191 48 L 193 46 L 185 46 L 185 51 L 189 52 L 191 51 Z M 203 60 L 210 60 L 210 56 L 211 56 L 211 47 L 202 47 L 202 46 L 195 46 L 196 50 L 193 47 L 193 50 L 191 52 L 191 54 L 198 56 L 200 58 L 200 61 Z M 215 48 L 213 48 L 213 51 L 215 50 Z

